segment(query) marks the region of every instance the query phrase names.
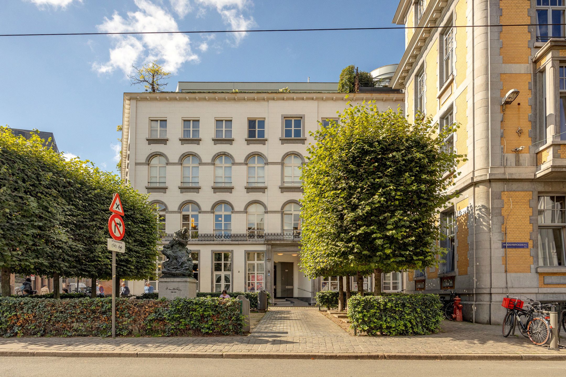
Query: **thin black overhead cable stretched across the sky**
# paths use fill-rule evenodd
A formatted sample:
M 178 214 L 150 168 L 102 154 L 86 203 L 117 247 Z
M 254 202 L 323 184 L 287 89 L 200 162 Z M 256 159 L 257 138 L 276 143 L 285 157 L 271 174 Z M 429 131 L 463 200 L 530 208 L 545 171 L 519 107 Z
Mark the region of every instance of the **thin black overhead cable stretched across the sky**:
M 566 24 L 495 24 L 495 25 L 452 25 L 453 28 L 494 28 L 518 26 L 563 26 Z M 45 37 L 45 36 L 106 36 L 135 34 L 213 34 L 213 33 L 271 33 L 271 32 L 330 32 L 361 30 L 405 30 L 405 29 L 444 29 L 446 26 L 387 26 L 375 28 L 315 28 L 315 29 L 255 29 L 255 30 L 201 30 L 172 32 L 98 32 L 98 33 L 29 33 L 0 34 L 0 37 Z

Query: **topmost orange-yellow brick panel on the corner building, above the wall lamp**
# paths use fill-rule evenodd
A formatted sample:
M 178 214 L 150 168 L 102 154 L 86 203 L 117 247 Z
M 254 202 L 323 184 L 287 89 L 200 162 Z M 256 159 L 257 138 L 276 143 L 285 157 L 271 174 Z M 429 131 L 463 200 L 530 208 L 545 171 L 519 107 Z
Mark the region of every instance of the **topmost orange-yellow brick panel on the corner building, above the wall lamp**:
M 530 0 L 500 0 L 501 24 L 530 24 Z M 529 64 L 531 34 L 528 26 L 504 27 L 500 33 L 504 64 Z M 505 86 L 503 86 L 505 88 Z M 509 88 L 511 89 L 511 88 Z M 508 90 L 509 90 L 508 89 Z M 526 101 L 525 101 L 526 102 Z

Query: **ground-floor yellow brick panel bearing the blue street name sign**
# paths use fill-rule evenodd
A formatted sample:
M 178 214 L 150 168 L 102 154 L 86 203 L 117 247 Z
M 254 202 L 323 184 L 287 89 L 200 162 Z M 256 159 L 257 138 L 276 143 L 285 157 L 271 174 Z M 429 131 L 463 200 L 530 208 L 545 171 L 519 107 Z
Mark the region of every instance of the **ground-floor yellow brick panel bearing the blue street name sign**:
M 530 223 L 529 216 L 533 214 L 529 201 L 533 198 L 530 191 L 504 191 L 501 192 L 503 200 L 503 225 L 501 232 L 505 232 L 507 225 L 507 242 L 529 242 L 529 249 L 507 249 L 507 272 L 525 273 L 530 272 L 533 264 L 533 257 L 530 255 L 530 248 L 533 241 L 530 240 L 530 232 L 533 231 L 533 224 Z M 511 205 L 513 202 L 513 205 Z M 505 236 L 504 236 L 505 237 Z M 503 239 L 505 241 L 505 239 Z M 505 266 L 505 249 L 503 249 L 501 263 Z

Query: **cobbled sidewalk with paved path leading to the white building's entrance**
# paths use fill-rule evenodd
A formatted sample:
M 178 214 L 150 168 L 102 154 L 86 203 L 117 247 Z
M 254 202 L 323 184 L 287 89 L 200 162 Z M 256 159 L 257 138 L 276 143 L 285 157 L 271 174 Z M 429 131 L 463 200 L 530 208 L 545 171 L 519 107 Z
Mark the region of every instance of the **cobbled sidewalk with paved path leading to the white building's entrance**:
M 0 356 L 566 360 L 566 350 L 467 322 L 426 336 L 350 336 L 314 307 L 273 307 L 248 336 L 7 338 Z

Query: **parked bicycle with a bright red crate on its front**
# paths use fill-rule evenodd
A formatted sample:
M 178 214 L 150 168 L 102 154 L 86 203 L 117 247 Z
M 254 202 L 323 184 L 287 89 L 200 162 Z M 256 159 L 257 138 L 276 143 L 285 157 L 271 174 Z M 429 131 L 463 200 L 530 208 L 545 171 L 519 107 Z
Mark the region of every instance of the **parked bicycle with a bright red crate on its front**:
M 508 337 L 513 328 L 518 324 L 519 331 L 528 337 L 533 344 L 543 345 L 550 338 L 550 325 L 544 315 L 536 313 L 535 307 L 541 307 L 541 303 L 528 299 L 528 309 L 523 309 L 525 304 L 518 297 L 503 298 L 501 306 L 507 308 L 507 314 L 503 318 L 503 336 Z

